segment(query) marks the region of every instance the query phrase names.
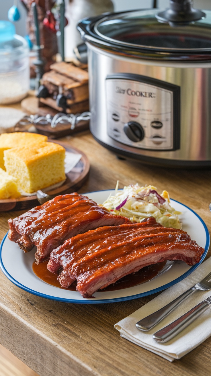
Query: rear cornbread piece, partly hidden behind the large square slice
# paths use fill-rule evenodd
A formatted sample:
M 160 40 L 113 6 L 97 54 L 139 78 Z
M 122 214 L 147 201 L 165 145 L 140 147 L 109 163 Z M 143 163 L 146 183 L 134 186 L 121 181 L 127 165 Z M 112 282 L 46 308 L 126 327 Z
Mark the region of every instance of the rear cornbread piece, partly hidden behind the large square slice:
M 29 144 L 38 144 L 47 141 L 47 136 L 38 135 L 37 133 L 14 132 L 2 133 L 0 135 L 0 168 L 5 170 L 4 151 L 12 147 L 28 146 Z

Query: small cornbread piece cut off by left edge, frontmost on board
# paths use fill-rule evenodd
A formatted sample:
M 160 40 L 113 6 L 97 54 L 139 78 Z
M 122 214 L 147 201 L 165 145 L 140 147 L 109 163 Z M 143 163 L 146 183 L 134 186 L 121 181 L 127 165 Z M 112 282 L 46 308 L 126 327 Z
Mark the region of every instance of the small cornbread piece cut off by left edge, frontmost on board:
M 17 199 L 20 196 L 14 177 L 0 168 L 0 200 Z

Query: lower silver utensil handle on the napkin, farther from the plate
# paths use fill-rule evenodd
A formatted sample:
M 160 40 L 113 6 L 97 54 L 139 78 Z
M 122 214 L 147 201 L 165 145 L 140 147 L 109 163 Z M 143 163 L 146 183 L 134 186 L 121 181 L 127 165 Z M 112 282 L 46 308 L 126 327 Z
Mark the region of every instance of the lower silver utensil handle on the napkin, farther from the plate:
M 165 343 L 182 332 L 188 325 L 190 325 L 197 317 L 199 317 L 211 304 L 211 300 L 203 300 L 203 302 L 197 304 L 194 308 L 190 309 L 187 313 L 179 317 L 173 323 L 165 326 L 155 334 L 153 338 L 157 342 Z

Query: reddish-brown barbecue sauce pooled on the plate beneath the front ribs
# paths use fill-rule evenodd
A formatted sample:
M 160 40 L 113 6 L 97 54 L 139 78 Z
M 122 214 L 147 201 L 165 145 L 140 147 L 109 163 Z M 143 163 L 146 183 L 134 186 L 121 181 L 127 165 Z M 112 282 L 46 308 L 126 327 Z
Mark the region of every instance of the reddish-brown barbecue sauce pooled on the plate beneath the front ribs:
M 64 290 L 76 291 L 77 281 L 73 282 L 73 284 L 68 288 L 62 287 L 57 280 L 57 275 L 51 273 L 47 269 L 47 263 L 48 261 L 44 261 L 41 262 L 41 264 L 36 265 L 35 262 L 33 262 L 33 272 L 36 274 L 37 277 L 42 279 L 44 282 L 47 282 L 49 285 L 63 288 Z M 164 267 L 165 263 L 166 261 L 158 262 L 158 264 L 145 266 L 141 270 L 119 279 L 117 282 L 115 282 L 115 284 L 109 285 L 108 287 L 103 288 L 103 290 L 100 291 L 121 290 L 123 288 L 133 287 L 147 282 L 159 273 L 159 271 Z

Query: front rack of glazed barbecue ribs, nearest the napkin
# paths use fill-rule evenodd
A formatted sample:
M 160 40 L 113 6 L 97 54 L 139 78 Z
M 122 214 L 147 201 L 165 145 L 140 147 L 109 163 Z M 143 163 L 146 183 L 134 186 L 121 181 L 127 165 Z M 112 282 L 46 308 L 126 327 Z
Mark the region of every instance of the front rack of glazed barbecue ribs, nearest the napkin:
M 52 251 L 47 268 L 60 273 L 58 280 L 63 287 L 77 280 L 77 291 L 89 298 L 144 266 L 164 260 L 194 265 L 203 252 L 187 232 L 163 227 L 150 217 L 141 223 L 104 226 L 68 239 Z

